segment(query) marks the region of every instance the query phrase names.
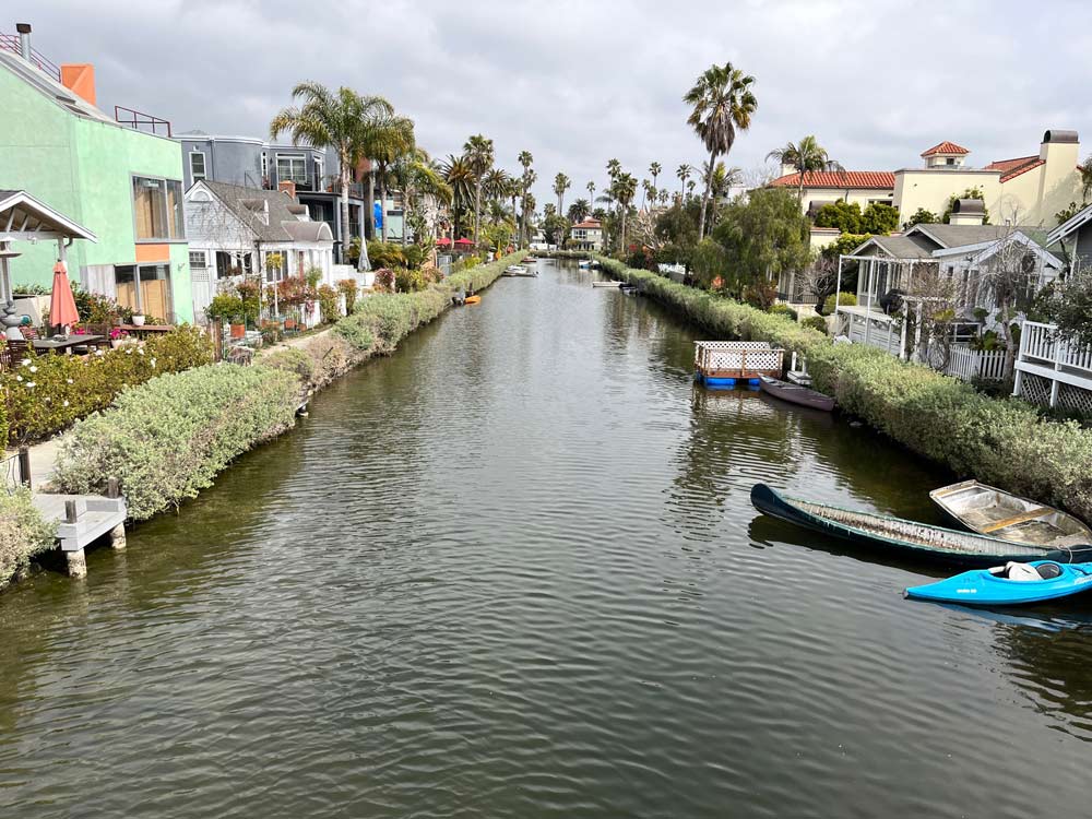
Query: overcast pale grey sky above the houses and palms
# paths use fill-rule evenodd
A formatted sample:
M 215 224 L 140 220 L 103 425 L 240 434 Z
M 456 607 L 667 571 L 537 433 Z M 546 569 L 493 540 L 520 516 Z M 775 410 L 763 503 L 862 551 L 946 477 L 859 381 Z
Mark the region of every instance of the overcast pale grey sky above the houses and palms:
M 756 78 L 729 165 L 814 133 L 846 168 L 917 166 L 942 140 L 969 162 L 1037 153 L 1047 128 L 1092 144 L 1092 3 L 1009 0 L 404 2 L 38 0 L 35 47 L 93 62 L 99 106 L 175 131 L 264 135 L 299 80 L 387 96 L 434 156 L 492 138 L 534 154 L 538 201 L 571 202 L 617 157 L 638 179 L 703 159 L 682 94 L 713 62 Z M 12 13 L 9 5 L 9 14 Z M 1083 156 L 1083 152 L 1082 152 Z M 663 177 L 661 182 L 663 182 Z

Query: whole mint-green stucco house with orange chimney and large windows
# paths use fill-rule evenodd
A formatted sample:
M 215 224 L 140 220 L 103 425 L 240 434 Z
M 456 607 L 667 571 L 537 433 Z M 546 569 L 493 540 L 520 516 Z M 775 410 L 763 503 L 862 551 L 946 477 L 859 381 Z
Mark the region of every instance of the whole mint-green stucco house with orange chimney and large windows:
M 95 107 L 94 69 L 58 75 L 0 49 L 0 189 L 32 197 L 92 230 L 68 249 L 85 288 L 150 317 L 193 321 L 179 143 Z M 52 281 L 54 244 L 22 242 L 14 285 Z

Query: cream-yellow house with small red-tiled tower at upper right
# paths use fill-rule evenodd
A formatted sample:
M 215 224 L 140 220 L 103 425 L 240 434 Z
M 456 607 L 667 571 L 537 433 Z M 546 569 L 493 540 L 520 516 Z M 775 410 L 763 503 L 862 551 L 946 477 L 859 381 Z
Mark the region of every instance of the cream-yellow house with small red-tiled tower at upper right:
M 925 166 L 894 171 L 894 205 L 909 219 L 919 209 L 940 216 L 951 197 L 978 188 L 994 224 L 1053 226 L 1055 214 L 1081 200 L 1080 141 L 1076 131 L 1043 134 L 1037 154 L 968 167 L 965 147 L 941 142 L 925 153 Z

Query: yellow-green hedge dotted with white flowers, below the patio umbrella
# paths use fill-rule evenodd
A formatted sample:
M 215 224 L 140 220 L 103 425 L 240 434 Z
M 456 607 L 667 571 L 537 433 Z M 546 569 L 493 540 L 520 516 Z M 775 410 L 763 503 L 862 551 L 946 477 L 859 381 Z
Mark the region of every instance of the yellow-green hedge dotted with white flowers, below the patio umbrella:
M 143 345 L 88 356 L 35 355 L 0 373 L 8 440 L 25 443 L 109 406 L 126 387 L 212 361 L 212 342 L 195 328 L 152 336 Z

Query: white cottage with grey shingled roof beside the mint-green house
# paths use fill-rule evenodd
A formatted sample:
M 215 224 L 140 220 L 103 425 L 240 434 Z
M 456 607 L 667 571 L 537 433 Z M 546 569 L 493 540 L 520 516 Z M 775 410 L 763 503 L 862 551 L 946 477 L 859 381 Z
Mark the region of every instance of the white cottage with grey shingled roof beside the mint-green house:
M 318 270 L 321 284 L 334 283 L 330 226 L 312 222 L 307 206 L 287 192 L 205 179 L 186 192 L 185 207 L 199 321 L 222 280 L 261 272 L 273 284 Z

